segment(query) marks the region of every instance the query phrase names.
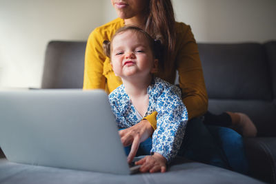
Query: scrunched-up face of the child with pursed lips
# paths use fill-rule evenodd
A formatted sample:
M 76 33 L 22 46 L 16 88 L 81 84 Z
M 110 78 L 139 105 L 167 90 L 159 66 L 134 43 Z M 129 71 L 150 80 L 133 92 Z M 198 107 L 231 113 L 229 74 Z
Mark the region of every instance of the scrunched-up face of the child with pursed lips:
M 148 40 L 141 32 L 127 30 L 112 40 L 111 64 L 117 76 L 151 76 L 157 68 Z

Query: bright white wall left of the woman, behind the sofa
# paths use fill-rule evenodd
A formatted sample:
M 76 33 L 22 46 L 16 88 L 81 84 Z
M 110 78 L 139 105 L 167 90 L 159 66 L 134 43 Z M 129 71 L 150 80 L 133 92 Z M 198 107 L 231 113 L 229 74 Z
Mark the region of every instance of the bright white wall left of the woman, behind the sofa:
M 48 41 L 86 40 L 102 10 L 98 0 L 0 0 L 0 86 L 40 87 Z

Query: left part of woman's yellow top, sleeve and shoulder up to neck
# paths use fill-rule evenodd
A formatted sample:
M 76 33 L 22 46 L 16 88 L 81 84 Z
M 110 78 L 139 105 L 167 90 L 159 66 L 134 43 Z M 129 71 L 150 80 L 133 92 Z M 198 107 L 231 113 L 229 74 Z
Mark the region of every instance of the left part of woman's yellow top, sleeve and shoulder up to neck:
M 110 59 L 103 52 L 103 41 L 110 40 L 116 30 L 124 26 L 124 20 L 117 18 L 95 28 L 86 43 L 86 55 L 83 74 L 83 90 L 101 88 L 107 93 L 121 85 L 121 79 L 115 76 Z

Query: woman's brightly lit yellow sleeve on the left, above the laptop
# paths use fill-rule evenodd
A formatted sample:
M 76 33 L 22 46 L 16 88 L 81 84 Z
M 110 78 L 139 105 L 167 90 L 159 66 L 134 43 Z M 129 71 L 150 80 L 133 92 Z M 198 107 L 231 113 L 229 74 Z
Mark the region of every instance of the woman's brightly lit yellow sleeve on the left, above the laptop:
M 96 28 L 91 32 L 86 43 L 83 90 L 106 87 L 106 79 L 103 76 L 103 61 L 106 56 L 103 53 L 102 43 L 103 38 Z

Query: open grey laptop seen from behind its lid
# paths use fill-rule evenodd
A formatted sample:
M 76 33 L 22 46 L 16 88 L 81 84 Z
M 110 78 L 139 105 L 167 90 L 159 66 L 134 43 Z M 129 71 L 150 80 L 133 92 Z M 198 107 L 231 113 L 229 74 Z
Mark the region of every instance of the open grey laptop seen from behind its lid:
M 103 90 L 0 92 L 0 147 L 16 163 L 131 174 Z

